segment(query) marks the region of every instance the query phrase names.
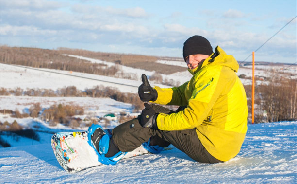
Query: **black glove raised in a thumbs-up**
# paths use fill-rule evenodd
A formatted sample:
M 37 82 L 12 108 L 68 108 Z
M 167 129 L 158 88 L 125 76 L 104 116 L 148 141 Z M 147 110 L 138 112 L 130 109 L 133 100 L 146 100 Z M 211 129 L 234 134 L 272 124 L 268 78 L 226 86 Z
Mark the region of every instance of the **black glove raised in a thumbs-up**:
M 138 94 L 139 94 L 140 100 L 143 102 L 156 101 L 158 98 L 157 90 L 153 89 L 150 86 L 147 75 L 142 74 L 141 79 L 142 79 L 142 84 L 138 87 Z

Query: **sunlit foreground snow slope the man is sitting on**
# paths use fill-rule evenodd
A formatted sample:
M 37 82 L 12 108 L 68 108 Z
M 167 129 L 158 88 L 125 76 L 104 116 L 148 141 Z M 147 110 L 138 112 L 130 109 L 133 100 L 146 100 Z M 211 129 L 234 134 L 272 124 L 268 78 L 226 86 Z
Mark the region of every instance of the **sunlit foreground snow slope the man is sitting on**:
M 287 183 L 297 182 L 297 121 L 248 125 L 238 156 L 200 164 L 176 148 L 93 167 L 64 171 L 50 143 L 0 148 L 0 183 Z

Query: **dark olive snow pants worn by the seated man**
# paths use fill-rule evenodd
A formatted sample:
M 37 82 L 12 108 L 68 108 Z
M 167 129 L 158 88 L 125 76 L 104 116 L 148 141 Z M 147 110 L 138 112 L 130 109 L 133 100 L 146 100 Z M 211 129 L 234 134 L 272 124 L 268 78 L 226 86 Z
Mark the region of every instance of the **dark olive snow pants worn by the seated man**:
M 156 112 L 166 114 L 173 113 L 165 107 L 151 104 Z M 133 151 L 142 143 L 147 142 L 149 138 L 154 137 L 161 140 L 161 145 L 168 146 L 169 143 L 186 153 L 192 159 L 201 163 L 219 163 L 222 162 L 214 158 L 201 144 L 198 139 L 196 129 L 187 129 L 181 131 L 163 131 L 150 128 L 144 128 L 139 124 L 137 118 L 127 121 L 113 129 L 113 141 L 120 151 Z M 160 139 L 161 138 L 161 139 Z M 169 142 L 169 143 L 168 143 Z M 167 144 L 168 143 L 168 144 Z M 158 144 L 160 145 L 160 144 Z M 160 146 L 161 146 L 160 145 Z

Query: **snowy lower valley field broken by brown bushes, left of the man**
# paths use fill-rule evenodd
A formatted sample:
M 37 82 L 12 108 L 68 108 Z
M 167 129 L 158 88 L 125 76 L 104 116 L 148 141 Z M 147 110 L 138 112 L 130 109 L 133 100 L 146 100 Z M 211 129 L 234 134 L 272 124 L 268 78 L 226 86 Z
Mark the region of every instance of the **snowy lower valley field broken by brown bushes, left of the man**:
M 106 114 L 113 113 L 115 116 L 119 117 L 120 113 L 130 114 L 134 116 L 133 108 L 131 104 L 126 104 L 123 102 L 115 101 L 111 98 L 91 98 L 91 97 L 32 97 L 32 96 L 0 96 L 1 109 L 6 110 L 18 110 L 21 113 L 29 113 L 29 108 L 34 104 L 39 102 L 41 108 L 48 109 L 51 105 L 79 105 L 83 107 L 84 114 L 77 115 L 76 118 L 80 119 L 96 119 L 99 120 Z M 42 114 L 42 111 L 40 112 Z M 138 115 L 138 113 L 136 113 Z M 12 123 L 14 120 L 24 128 L 32 128 L 36 123 L 38 127 L 41 127 L 40 131 L 49 131 L 49 129 L 70 129 L 61 124 L 55 127 L 49 127 L 49 123 L 42 121 L 39 118 L 13 118 L 9 114 L 0 113 L 0 121 L 4 123 Z M 110 121 L 108 125 L 102 124 L 105 128 L 113 128 L 118 125 L 118 121 Z M 87 127 L 79 127 L 77 129 L 86 130 Z M 3 138 L 3 136 L 1 136 Z M 24 144 L 21 143 L 20 144 Z

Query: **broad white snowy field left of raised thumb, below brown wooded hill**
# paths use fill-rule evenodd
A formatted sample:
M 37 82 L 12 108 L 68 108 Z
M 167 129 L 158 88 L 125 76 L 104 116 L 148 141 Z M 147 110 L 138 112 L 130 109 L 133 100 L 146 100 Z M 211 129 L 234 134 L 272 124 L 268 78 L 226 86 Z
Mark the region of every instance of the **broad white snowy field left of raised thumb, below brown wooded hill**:
M 130 69 L 131 70 L 131 69 Z M 95 86 L 105 86 L 117 88 L 121 92 L 137 93 L 138 87 L 142 84 L 141 74 L 148 74 L 144 70 L 138 71 L 139 81 L 129 79 L 119 79 L 115 77 L 85 74 L 72 71 L 37 69 L 33 67 L 24 67 L 16 65 L 6 65 L 0 63 L 0 87 L 7 89 L 52 89 L 75 86 L 79 90 L 93 88 Z M 148 75 L 150 76 L 150 75 Z M 9 80 L 3 80 L 9 79 Z M 161 84 L 154 84 L 160 87 L 169 87 Z

